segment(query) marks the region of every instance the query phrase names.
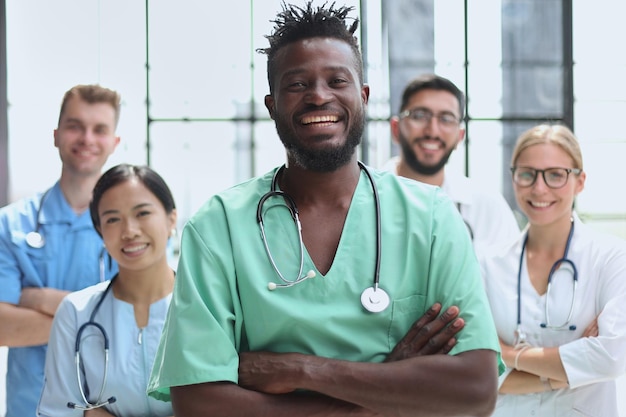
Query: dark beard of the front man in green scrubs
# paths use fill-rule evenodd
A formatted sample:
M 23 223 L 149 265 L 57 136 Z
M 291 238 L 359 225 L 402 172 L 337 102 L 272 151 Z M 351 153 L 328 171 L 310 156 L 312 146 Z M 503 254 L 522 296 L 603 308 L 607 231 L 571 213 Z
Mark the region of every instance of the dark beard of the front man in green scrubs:
M 289 123 L 280 115 L 275 116 L 275 122 L 278 136 L 289 155 L 295 159 L 296 165 L 316 172 L 333 172 L 350 162 L 356 147 L 361 144 L 365 130 L 365 112 L 362 110 L 355 115 L 345 143 L 338 148 L 311 149 L 305 147 L 298 140 Z

